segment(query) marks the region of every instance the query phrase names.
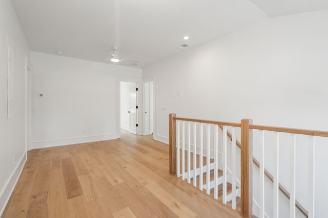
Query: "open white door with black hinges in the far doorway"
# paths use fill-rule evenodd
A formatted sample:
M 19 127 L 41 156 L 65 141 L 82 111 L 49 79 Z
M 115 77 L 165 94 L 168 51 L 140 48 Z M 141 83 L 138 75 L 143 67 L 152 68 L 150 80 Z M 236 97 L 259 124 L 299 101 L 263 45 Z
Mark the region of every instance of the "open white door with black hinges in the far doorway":
M 138 133 L 137 128 L 137 83 L 130 83 L 130 126 L 129 132 L 132 134 Z

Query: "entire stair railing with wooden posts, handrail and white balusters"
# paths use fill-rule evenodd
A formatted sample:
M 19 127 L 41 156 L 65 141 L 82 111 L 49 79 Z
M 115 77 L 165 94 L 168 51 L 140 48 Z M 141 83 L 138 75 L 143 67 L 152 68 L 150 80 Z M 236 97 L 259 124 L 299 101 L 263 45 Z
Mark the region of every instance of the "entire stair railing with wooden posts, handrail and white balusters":
M 177 122 L 178 120 L 178 122 Z M 237 145 L 241 149 L 241 215 L 243 217 L 252 217 L 252 203 L 253 203 L 253 198 L 252 198 L 252 162 L 255 163 L 256 166 L 260 168 L 260 217 L 264 217 L 264 176 L 267 176 L 274 184 L 274 205 L 273 205 L 273 211 L 274 211 L 274 216 L 273 217 L 278 217 L 279 216 L 279 191 L 281 191 L 289 200 L 290 200 L 290 217 L 295 217 L 296 216 L 296 208 L 298 208 L 305 217 L 315 217 L 314 215 L 314 182 L 315 182 L 315 174 L 314 174 L 314 167 L 315 167 L 315 159 L 314 159 L 314 151 L 315 151 L 315 136 L 320 136 L 320 137 L 328 137 L 328 132 L 325 131 L 314 131 L 314 130 L 303 130 L 303 129 L 292 129 L 292 128 L 282 128 L 282 127 L 269 127 L 269 126 L 259 126 L 259 125 L 253 125 L 251 119 L 242 119 L 240 124 L 236 123 L 227 123 L 227 122 L 214 122 L 210 120 L 200 120 L 200 119 L 189 119 L 189 118 L 180 118 L 176 117 L 175 114 L 170 114 L 170 173 L 171 174 L 177 174 L 177 177 L 182 176 L 182 179 L 184 180 L 186 177 L 185 174 L 185 168 L 182 169 L 182 174 L 179 172 L 180 168 L 180 163 L 179 163 L 179 157 L 180 157 L 180 122 L 187 122 L 188 126 L 188 143 L 187 143 L 187 181 L 190 182 L 191 173 L 193 173 L 193 177 L 196 178 L 197 175 L 202 175 L 202 169 L 203 167 L 199 167 L 199 170 L 196 171 L 191 171 L 190 169 L 190 144 L 191 144 L 191 139 L 190 139 L 190 132 L 191 132 L 191 122 L 194 123 L 194 144 L 196 144 L 196 123 L 200 123 L 199 129 L 201 130 L 200 137 L 202 137 L 202 128 L 203 124 L 207 124 L 207 128 L 209 128 L 209 125 L 215 125 L 215 146 L 214 146 L 214 173 L 217 172 L 217 141 L 218 136 L 217 136 L 217 130 L 218 127 L 220 127 L 223 130 L 223 136 L 228 135 L 231 140 L 232 140 L 232 155 L 235 153 L 234 147 Z M 183 155 L 181 155 L 181 163 L 184 166 L 184 153 L 185 153 L 185 125 L 182 123 L 182 143 L 181 143 L 181 152 Z M 233 133 L 231 134 L 230 132 L 227 131 L 227 126 L 231 127 L 240 127 L 241 128 L 241 143 L 236 141 L 236 135 L 235 135 L 235 130 L 233 129 Z M 261 141 L 261 146 L 260 146 L 260 159 L 257 161 L 255 158 L 253 158 L 252 154 L 252 144 L 253 144 L 253 132 L 252 130 L 259 130 L 260 131 L 260 141 Z M 275 149 L 274 149 L 274 175 L 272 176 L 268 171 L 265 170 L 264 168 L 264 131 L 271 131 L 274 132 L 275 135 Z M 209 132 L 209 131 L 208 131 Z M 291 177 L 290 177 L 290 193 L 284 189 L 281 184 L 279 184 L 279 133 L 290 133 L 290 171 L 291 171 Z M 297 201 L 295 197 L 295 171 L 296 171 L 296 162 L 295 162 L 295 151 L 296 151 L 296 135 L 301 134 L 301 135 L 308 135 L 309 136 L 309 211 L 307 212 Z M 178 137 L 177 137 L 178 135 Z M 207 136 L 209 139 L 209 135 Z M 209 141 L 209 140 L 208 140 Z M 202 139 L 200 140 L 200 143 L 202 143 Z M 202 144 L 200 144 L 202 146 Z M 224 150 L 227 151 L 227 137 L 223 137 L 223 166 L 224 166 L 224 159 L 227 160 L 226 154 L 224 154 Z M 194 161 L 195 161 L 195 156 L 197 154 L 197 151 L 195 149 L 196 146 L 194 146 L 193 150 L 193 155 L 194 155 Z M 210 148 L 209 145 L 207 148 Z M 202 157 L 202 149 L 200 149 L 200 156 Z M 207 150 L 206 157 L 211 157 L 210 153 Z M 232 157 L 233 159 L 235 157 Z M 212 169 L 213 164 L 208 161 L 207 158 L 207 164 L 206 164 L 206 170 L 207 172 Z M 202 165 L 202 158 L 199 158 L 199 162 Z M 233 161 L 234 162 L 234 161 Z M 212 165 L 211 165 L 212 164 Z M 194 162 L 194 167 L 195 167 L 195 162 Z M 224 169 L 225 168 L 225 169 Z M 233 166 L 234 168 L 234 166 Z M 223 167 L 225 171 L 227 171 L 226 167 Z M 224 171 L 223 170 L 223 171 Z M 226 175 L 227 172 L 223 173 L 223 176 Z M 233 176 L 234 177 L 234 176 Z M 207 177 L 207 184 L 209 179 Z M 214 179 L 217 178 L 217 175 L 214 177 Z M 235 177 L 234 177 L 235 178 Z M 202 179 L 200 179 L 202 181 Z M 224 180 L 224 179 L 223 179 Z M 199 182 L 201 182 L 199 181 Z M 227 181 L 227 180 L 225 180 Z M 233 179 L 232 181 L 235 181 Z M 194 180 L 194 186 L 195 185 L 195 180 Z M 218 184 L 216 181 L 214 181 L 214 184 Z M 223 183 L 224 184 L 224 183 Z M 235 184 L 235 183 L 234 183 Z M 214 186 L 216 187 L 217 190 L 217 185 Z M 232 185 L 234 188 L 235 185 Z M 200 189 L 202 189 L 202 186 L 200 186 Z M 207 192 L 209 190 L 209 187 L 207 187 Z M 216 197 L 216 190 L 214 189 L 214 198 Z M 223 186 L 224 190 L 224 186 Z M 223 191 L 224 192 L 224 191 Z M 226 196 L 227 197 L 227 196 Z M 224 201 L 224 193 L 222 196 L 222 201 L 223 203 L 226 203 Z M 236 195 L 235 195 L 236 197 Z M 234 203 L 233 203 L 234 204 Z M 235 208 L 234 206 L 232 206 Z

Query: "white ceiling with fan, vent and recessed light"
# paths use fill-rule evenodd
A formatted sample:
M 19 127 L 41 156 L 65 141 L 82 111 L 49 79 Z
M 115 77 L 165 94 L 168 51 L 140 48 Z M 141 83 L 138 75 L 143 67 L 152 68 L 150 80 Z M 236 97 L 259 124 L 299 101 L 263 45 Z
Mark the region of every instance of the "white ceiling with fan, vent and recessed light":
M 136 67 L 269 16 L 328 8 L 327 0 L 12 0 L 12 4 L 32 51 L 61 51 L 63 56 L 109 63 L 104 47 L 118 46 L 119 56 L 140 62 Z M 185 35 L 189 40 L 183 40 Z M 183 43 L 190 46 L 177 49 Z

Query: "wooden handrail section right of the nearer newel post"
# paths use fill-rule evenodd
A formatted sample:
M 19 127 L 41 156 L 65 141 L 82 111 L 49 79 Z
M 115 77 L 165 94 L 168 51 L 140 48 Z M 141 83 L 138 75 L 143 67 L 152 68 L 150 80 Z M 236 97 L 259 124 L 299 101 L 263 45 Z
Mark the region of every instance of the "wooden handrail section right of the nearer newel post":
M 293 129 L 293 128 L 285 128 L 285 127 L 270 127 L 270 126 L 260 126 L 260 125 L 250 125 L 250 129 L 328 137 L 328 132 L 317 131 L 317 130 Z

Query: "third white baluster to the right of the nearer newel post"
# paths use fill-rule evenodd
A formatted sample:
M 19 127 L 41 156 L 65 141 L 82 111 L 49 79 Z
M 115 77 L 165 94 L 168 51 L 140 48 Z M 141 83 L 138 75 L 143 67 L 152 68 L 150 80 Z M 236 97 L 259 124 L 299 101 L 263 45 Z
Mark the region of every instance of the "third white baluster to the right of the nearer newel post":
M 296 135 L 291 134 L 290 146 L 290 218 L 295 218 L 295 150 L 296 150 Z

